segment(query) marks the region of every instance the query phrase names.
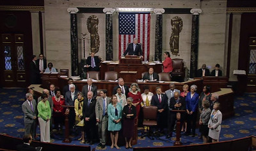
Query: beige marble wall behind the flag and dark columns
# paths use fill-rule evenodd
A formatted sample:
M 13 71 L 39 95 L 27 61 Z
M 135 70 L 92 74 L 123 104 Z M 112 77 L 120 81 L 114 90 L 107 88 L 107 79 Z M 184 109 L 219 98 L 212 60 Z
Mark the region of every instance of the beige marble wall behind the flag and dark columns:
M 210 70 L 216 63 L 221 65 L 221 69 L 226 65 L 225 56 L 225 35 L 226 31 L 226 4 L 227 0 L 160 0 L 160 1 L 105 1 L 99 0 L 45 0 L 45 39 L 46 57 L 48 61 L 54 63 L 56 68 L 71 69 L 70 63 L 70 13 L 67 8 L 200 8 L 202 13 L 199 17 L 199 45 L 198 45 L 198 68 L 203 63 L 207 64 Z M 105 14 L 104 13 L 77 13 L 77 26 L 79 37 L 79 58 L 83 58 L 83 38 L 81 33 L 88 33 L 86 20 L 90 15 L 99 17 L 100 51 L 102 60 L 106 58 L 105 42 Z M 169 38 L 171 34 L 170 20 L 174 16 L 179 16 L 183 20 L 183 29 L 180 33 L 180 56 L 172 58 L 182 58 L 186 67 L 190 67 L 191 49 L 191 19 L 192 14 L 164 14 L 163 13 L 163 52 L 170 51 Z M 156 14 L 152 13 L 150 31 L 150 61 L 154 60 L 154 36 Z M 86 56 L 90 44 L 89 33 L 86 35 Z M 118 14 L 113 13 L 113 59 L 118 59 Z M 225 70 L 224 70 L 225 75 Z

